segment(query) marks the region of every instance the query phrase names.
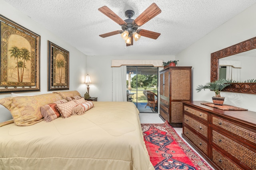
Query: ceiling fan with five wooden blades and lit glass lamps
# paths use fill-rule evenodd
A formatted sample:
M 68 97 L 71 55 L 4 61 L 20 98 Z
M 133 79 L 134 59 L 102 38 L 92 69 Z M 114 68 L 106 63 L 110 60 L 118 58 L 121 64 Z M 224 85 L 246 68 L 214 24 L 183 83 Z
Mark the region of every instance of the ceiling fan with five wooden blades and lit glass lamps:
M 125 12 L 125 16 L 128 18 L 126 20 L 122 20 L 122 18 L 116 15 L 107 6 L 102 6 L 98 10 L 122 27 L 122 30 L 101 34 L 100 37 L 102 38 L 121 34 L 121 37 L 126 40 L 126 46 L 131 46 L 133 45 L 133 39 L 138 41 L 140 36 L 157 39 L 160 35 L 160 33 L 148 31 L 146 29 L 138 29 L 138 27 L 142 26 L 144 23 L 161 13 L 160 8 L 155 3 L 151 4 L 135 20 L 132 19 L 135 14 L 133 10 L 127 10 Z

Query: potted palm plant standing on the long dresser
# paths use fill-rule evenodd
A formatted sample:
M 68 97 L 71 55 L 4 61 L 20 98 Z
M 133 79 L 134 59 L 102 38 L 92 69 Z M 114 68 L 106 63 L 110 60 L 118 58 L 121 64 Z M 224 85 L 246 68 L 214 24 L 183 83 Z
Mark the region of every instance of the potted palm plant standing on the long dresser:
M 222 105 L 225 97 L 220 96 L 220 91 L 230 86 L 230 83 L 226 79 L 218 79 L 214 82 L 207 82 L 205 85 L 199 85 L 196 90 L 200 92 L 201 90 L 209 89 L 215 92 L 215 96 L 212 97 L 212 101 L 216 105 Z

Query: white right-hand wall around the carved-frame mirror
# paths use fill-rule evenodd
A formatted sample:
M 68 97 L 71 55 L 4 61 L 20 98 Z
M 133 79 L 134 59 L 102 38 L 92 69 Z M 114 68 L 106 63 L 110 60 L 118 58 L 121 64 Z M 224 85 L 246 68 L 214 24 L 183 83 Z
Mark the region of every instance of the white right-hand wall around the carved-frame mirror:
M 252 5 L 244 12 L 238 14 L 227 21 L 202 39 L 192 44 L 190 47 L 176 55 L 176 59 L 182 65 L 193 66 L 193 100 L 205 100 L 212 102 L 214 92 L 210 90 L 196 92 L 199 84 L 210 81 L 210 54 L 224 49 L 236 43 L 256 36 L 256 4 Z M 242 94 L 221 92 L 225 97 L 224 104 L 243 107 L 251 111 L 256 111 L 255 94 Z

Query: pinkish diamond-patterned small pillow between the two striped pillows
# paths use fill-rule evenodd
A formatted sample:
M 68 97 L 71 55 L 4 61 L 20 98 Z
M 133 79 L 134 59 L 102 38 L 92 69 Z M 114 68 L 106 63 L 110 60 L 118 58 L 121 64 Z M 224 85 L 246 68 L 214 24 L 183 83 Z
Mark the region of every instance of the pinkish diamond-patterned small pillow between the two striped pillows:
M 67 118 L 70 117 L 72 114 L 72 109 L 74 107 L 76 107 L 76 102 L 74 102 L 73 100 L 67 102 L 67 103 L 63 103 L 63 104 L 57 104 L 57 108 L 60 111 L 60 115 L 63 118 Z

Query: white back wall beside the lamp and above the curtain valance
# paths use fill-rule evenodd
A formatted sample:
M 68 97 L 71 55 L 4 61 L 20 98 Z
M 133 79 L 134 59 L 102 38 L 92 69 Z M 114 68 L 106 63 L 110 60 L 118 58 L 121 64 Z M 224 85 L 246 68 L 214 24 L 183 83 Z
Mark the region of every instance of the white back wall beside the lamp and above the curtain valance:
M 112 60 L 174 60 L 175 56 L 88 56 L 87 70 L 92 84 L 90 96 L 98 101 L 112 101 Z M 182 66 L 180 63 L 178 66 Z M 85 91 L 86 92 L 86 91 Z

